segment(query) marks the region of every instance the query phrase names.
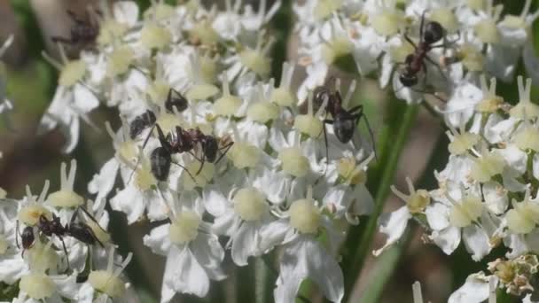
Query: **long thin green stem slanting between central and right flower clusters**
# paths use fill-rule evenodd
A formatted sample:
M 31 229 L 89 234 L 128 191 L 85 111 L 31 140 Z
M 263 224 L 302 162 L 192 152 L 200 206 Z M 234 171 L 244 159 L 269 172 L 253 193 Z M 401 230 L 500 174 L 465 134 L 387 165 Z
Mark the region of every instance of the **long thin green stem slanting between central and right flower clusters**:
M 397 128 L 397 134 L 394 137 L 393 144 L 390 146 L 386 166 L 383 168 L 380 178 L 379 190 L 376 193 L 374 210 L 367 221 L 365 229 L 363 229 L 363 235 L 359 241 L 359 245 L 355 246 L 355 249 L 351 252 L 353 258 L 351 265 L 345 267 L 348 269 L 348 275 L 345 276 L 345 298 L 343 299 L 345 302 L 348 300 L 355 280 L 363 268 L 364 260 L 370 253 L 371 240 L 376 231 L 379 214 L 381 214 L 386 204 L 387 195 L 394 180 L 399 158 L 410 134 L 410 129 L 418 116 L 418 111 L 419 105 L 409 105 L 406 107 L 401 123 L 399 123 Z

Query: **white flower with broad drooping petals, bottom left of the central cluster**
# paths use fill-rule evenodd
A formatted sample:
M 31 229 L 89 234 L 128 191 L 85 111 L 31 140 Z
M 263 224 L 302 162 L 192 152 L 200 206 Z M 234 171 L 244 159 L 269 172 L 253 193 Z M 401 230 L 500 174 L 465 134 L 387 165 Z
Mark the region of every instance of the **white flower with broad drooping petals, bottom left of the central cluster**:
M 191 192 L 179 198 L 170 223 L 152 229 L 144 237 L 153 253 L 167 256 L 161 302 L 169 302 L 176 292 L 205 297 L 210 280 L 222 280 L 223 247 L 209 225 L 202 221 L 204 207 L 198 194 Z

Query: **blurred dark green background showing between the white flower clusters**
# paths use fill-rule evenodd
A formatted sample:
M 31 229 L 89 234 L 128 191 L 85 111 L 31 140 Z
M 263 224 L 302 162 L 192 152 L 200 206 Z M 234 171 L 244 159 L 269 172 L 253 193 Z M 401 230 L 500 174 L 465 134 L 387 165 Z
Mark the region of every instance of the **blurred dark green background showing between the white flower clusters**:
M 150 5 L 149 1 L 137 1 L 141 7 Z M 257 1 L 250 1 L 256 5 Z M 82 136 L 76 150 L 65 155 L 59 151 L 64 143 L 63 136 L 58 130 L 43 136 L 36 136 L 37 126 L 43 112 L 51 102 L 57 83 L 58 73 L 43 60 L 43 50 L 56 54 L 51 44 L 51 35 L 67 35 L 71 27 L 66 9 L 74 12 L 84 12 L 86 5 L 95 1 L 82 0 L 11 0 L 0 2 L 0 42 L 10 34 L 16 36 L 12 48 L 4 55 L 3 61 L 7 66 L 8 97 L 13 101 L 15 110 L 11 114 L 12 129 L 7 128 L 4 121 L 0 122 L 0 187 L 7 190 L 8 197 L 21 198 L 24 187 L 29 184 L 34 192 L 41 190 L 46 179 L 51 180 L 51 189 L 59 188 L 59 164 L 75 158 L 78 161 L 76 189 L 87 192 L 86 184 L 92 175 L 98 172 L 101 164 L 113 156 L 113 149 L 108 136 L 105 136 L 104 122 L 110 120 L 118 125 L 117 114 L 113 109 L 100 107 L 91 114 L 91 119 L 100 127 L 100 131 L 82 123 Z M 245 3 L 245 1 L 244 1 Z M 503 2 L 505 13 L 519 14 L 523 1 Z M 538 7 L 534 1 L 532 12 Z M 293 29 L 293 12 L 291 2 L 284 5 L 272 19 L 272 31 L 277 35 L 277 44 L 273 51 L 273 74 L 278 78 L 281 63 L 285 58 L 297 59 L 295 55 L 295 40 Z M 537 27 L 535 24 L 534 28 Z M 534 31 L 535 45 L 538 31 Z M 539 49 L 539 47 L 536 47 Z M 519 73 L 523 74 L 522 63 L 519 63 Z M 372 79 L 359 79 L 356 74 L 349 74 L 334 68 L 331 74 L 349 82 L 359 80 L 358 96 L 355 102 L 361 102 L 367 107 L 367 115 L 375 129 L 379 161 L 370 171 L 368 183 L 371 192 L 377 193 L 380 180 L 386 175 L 389 183 L 394 183 L 399 189 L 405 188 L 404 177 L 410 175 L 417 187 L 433 189 L 436 186 L 433 171 L 444 167 L 448 157 L 446 136 L 442 136 L 442 121 L 431 116 L 424 109 L 410 109 L 399 100 L 391 97 L 389 92 L 380 90 L 377 82 Z M 301 82 L 301 73 L 296 74 L 296 83 Z M 518 98 L 517 87 L 514 83 L 498 82 L 497 93 L 506 101 L 514 102 Z M 532 100 L 537 99 L 537 89 L 533 89 Z M 410 115 L 408 128 L 402 128 L 406 122 L 402 113 Z M 363 129 L 364 130 L 364 129 Z M 405 131 L 404 131 L 405 130 Z M 410 130 L 410 131 L 408 131 Z M 364 133 L 364 132 L 363 132 Z M 399 135 L 400 134 L 400 135 Z M 402 137 L 402 149 L 394 151 L 395 136 Z M 388 172 L 387 165 L 391 159 L 398 163 L 394 171 Z M 398 162 L 397 162 L 398 161 Z M 385 203 L 385 212 L 402 206 L 402 201 L 389 196 L 389 192 L 379 193 Z M 387 203 L 386 203 L 387 200 Z M 412 227 L 414 224 L 410 224 Z M 424 298 L 432 302 L 445 302 L 451 291 L 464 283 L 469 274 L 485 270 L 486 264 L 503 252 L 492 253 L 481 262 L 473 262 L 465 253 L 464 247 L 459 247 L 457 253 L 446 256 L 433 245 L 424 245 L 422 232 L 413 227 L 407 233 L 405 241 L 384 253 L 378 259 L 366 255 L 363 264 L 354 264 L 355 247 L 361 241 L 363 230 L 368 226 L 363 220 L 359 227 L 350 231 L 347 245 L 343 249 L 343 264 L 353 265 L 356 271 L 348 271 L 347 296 L 353 302 L 410 302 L 411 284 L 420 281 L 423 284 Z M 129 226 L 129 234 L 123 214 L 113 213 L 110 228 L 113 238 L 120 245 L 121 253 L 132 251 L 136 258 L 129 265 L 128 276 L 133 285 L 133 302 L 159 301 L 160 280 L 164 268 L 163 258 L 155 256 L 142 245 L 142 237 L 150 229 L 148 222 Z M 366 252 L 373 247 L 379 247 L 383 238 L 376 237 Z M 207 299 L 197 299 L 191 296 L 177 296 L 177 302 L 214 302 L 241 301 L 251 302 L 255 298 L 255 289 L 246 281 L 253 281 L 255 273 L 261 265 L 250 265 L 246 268 L 235 268 L 229 259 L 225 261 L 225 270 L 230 277 L 218 283 L 213 283 Z M 263 265 L 262 265 L 263 267 Z M 266 291 L 271 291 L 274 276 L 269 276 Z M 312 302 L 322 302 L 323 298 L 313 287 L 306 284 L 302 294 Z M 366 291 L 369 290 L 369 291 Z M 137 299 L 137 298 L 138 299 Z M 512 302 L 512 299 L 500 295 L 502 302 Z M 270 293 L 266 293 L 265 301 L 271 301 Z

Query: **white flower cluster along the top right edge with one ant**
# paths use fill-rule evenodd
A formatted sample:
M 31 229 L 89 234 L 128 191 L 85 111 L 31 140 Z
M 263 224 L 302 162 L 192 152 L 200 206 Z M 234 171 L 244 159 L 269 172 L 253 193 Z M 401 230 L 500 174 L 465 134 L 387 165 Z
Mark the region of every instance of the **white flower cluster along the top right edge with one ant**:
M 424 93 L 449 96 L 450 113 L 473 99 L 480 74 L 512 81 L 519 58 L 535 72 L 530 25 L 539 12 L 505 14 L 502 4 L 475 1 L 308 0 L 294 4 L 298 16 L 300 62 L 309 76 L 301 96 L 324 82 L 329 66 L 354 66 L 362 75 L 376 73 L 380 87 L 393 86 L 396 97 L 418 103 Z M 441 25 L 441 31 L 430 22 Z M 434 41 L 434 43 L 428 43 Z M 410 64 L 425 43 L 426 58 Z M 409 67 L 410 66 L 410 67 Z M 410 68 L 413 82 L 401 79 Z M 346 68 L 345 68 L 346 69 Z M 415 70 L 417 69 L 417 73 Z M 538 79 L 539 80 L 539 79 Z M 412 84 L 412 85 L 410 85 Z M 414 85 L 415 84 L 415 85 Z

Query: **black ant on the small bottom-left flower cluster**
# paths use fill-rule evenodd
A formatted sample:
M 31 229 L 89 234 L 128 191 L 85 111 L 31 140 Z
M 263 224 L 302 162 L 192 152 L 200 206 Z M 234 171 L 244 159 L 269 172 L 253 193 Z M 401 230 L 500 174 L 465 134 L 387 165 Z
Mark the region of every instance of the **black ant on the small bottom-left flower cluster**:
M 101 245 L 101 247 L 105 247 L 105 245 L 103 245 L 103 243 L 99 241 L 98 237 L 88 224 L 75 221 L 77 215 L 79 214 L 79 209 L 82 209 L 84 214 L 86 214 L 92 221 L 98 223 L 98 221 L 90 213 L 88 213 L 86 209 L 80 206 L 74 210 L 74 213 L 71 216 L 71 220 L 65 226 L 62 225 L 62 223 L 60 222 L 60 218 L 56 214 L 52 214 L 52 220 L 48 219 L 44 214 L 41 214 L 39 216 L 39 221 L 36 224 L 37 230 L 43 233 L 43 235 L 47 237 L 52 237 L 53 235 L 59 237 L 60 241 L 62 242 L 64 253 L 66 253 L 66 258 L 68 255 L 66 243 L 64 242 L 64 237 L 66 236 L 74 237 L 75 239 L 87 245 L 95 245 L 96 243 L 98 243 L 99 245 Z M 19 221 L 17 221 L 17 229 L 19 229 Z M 15 239 L 17 247 L 19 247 L 17 237 L 15 237 Z M 24 250 L 30 248 L 35 242 L 34 228 L 31 226 L 27 226 L 25 229 L 23 229 L 22 234 L 20 234 L 20 239 L 22 242 L 22 248 L 24 253 Z M 67 259 L 67 266 L 69 267 L 69 259 Z

